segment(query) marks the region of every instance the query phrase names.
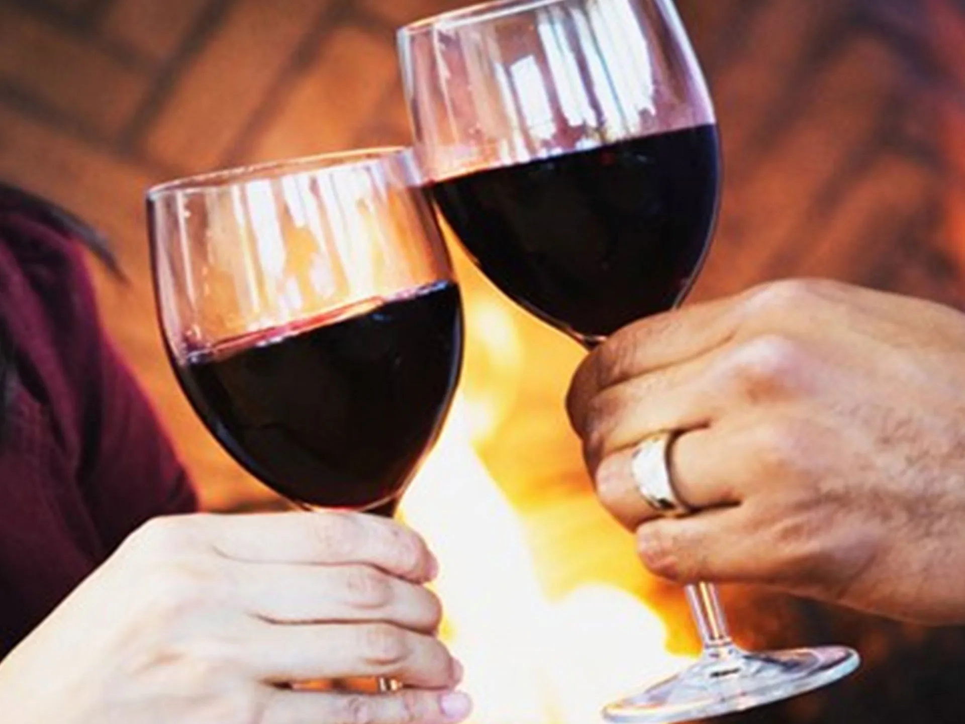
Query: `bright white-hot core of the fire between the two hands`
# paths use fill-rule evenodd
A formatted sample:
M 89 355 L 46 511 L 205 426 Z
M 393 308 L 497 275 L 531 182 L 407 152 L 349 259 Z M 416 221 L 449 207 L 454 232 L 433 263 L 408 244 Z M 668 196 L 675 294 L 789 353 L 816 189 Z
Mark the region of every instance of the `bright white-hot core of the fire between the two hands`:
M 487 304 L 470 306 L 468 316 L 478 343 L 498 350 L 486 355 L 489 371 L 500 365 L 505 382 L 511 365 L 522 363 L 511 316 Z M 513 381 L 480 395 L 474 392 L 484 379 L 465 382 L 446 432 L 404 497 L 402 515 L 439 557 L 443 635 L 465 667 L 473 721 L 597 721 L 606 701 L 672 673 L 683 660 L 667 653 L 667 630 L 656 614 L 620 588 L 587 582 L 559 600 L 540 589 L 527 523 L 473 447 L 496 434 L 508 407 L 500 395 L 512 394 Z M 567 551 L 559 557 L 565 565 Z

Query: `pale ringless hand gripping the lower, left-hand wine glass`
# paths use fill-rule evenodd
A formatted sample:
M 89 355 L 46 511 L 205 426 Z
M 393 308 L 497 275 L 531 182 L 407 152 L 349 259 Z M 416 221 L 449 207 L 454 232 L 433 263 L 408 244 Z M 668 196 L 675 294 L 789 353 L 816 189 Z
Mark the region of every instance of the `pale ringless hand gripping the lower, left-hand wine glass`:
M 159 519 L 0 662 L 5 724 L 433 724 L 465 717 L 436 563 L 343 513 Z M 388 694 L 287 684 L 387 677 Z

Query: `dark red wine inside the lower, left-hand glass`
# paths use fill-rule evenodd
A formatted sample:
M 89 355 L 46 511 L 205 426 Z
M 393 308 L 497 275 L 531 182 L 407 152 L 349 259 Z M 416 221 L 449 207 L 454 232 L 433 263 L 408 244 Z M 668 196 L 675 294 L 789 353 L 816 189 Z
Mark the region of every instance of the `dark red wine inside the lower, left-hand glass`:
M 400 495 L 439 433 L 462 360 L 458 288 L 441 283 L 191 352 L 179 381 L 246 469 L 308 505 Z

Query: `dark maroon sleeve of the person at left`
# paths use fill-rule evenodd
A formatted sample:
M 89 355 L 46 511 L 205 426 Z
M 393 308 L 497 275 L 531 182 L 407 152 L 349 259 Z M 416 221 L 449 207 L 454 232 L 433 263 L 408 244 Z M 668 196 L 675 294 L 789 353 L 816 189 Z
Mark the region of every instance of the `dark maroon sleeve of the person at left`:
M 196 499 L 103 334 L 79 242 L 2 198 L 0 329 L 16 365 L 0 411 L 2 658 L 128 533 Z

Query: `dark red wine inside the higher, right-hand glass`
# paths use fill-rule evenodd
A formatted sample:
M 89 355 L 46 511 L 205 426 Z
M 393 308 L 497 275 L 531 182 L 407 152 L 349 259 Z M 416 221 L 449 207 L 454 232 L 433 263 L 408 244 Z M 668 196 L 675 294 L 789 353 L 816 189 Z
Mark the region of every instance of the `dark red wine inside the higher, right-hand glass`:
M 593 341 L 689 291 L 719 184 L 717 128 L 703 125 L 429 191 L 483 274 L 545 321 Z

